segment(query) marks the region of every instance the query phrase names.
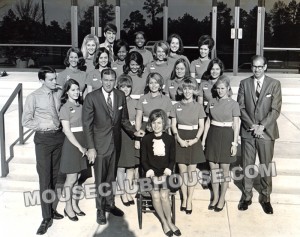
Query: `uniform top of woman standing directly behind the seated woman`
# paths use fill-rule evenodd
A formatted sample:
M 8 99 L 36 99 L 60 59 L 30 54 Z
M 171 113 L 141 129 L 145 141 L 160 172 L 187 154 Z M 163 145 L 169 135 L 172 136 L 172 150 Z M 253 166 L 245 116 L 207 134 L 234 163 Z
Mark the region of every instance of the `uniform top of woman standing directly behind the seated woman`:
M 146 122 L 148 122 L 149 115 L 152 110 L 162 109 L 166 113 L 169 113 L 172 110 L 172 102 L 168 96 L 160 94 L 158 96 L 152 97 L 151 92 L 149 92 L 146 95 L 141 96 L 137 103 L 136 109 L 143 111 L 142 129 L 145 129 Z

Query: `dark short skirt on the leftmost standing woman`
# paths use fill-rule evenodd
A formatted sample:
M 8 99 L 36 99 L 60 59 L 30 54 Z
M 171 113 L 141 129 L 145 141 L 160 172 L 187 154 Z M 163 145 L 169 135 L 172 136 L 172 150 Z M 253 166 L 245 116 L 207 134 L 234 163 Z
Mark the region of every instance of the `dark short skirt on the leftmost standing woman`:
M 83 132 L 73 132 L 76 140 L 85 147 Z M 60 171 L 65 174 L 79 173 L 87 168 L 86 157 L 75 147 L 67 137 L 62 147 Z

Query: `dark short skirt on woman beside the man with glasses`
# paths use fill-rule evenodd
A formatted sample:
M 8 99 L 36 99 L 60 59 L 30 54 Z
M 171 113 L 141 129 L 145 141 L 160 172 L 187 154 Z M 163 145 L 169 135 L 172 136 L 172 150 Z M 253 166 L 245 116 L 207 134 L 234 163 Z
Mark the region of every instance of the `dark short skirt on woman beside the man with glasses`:
M 233 139 L 232 127 L 219 127 L 211 124 L 205 144 L 206 159 L 214 163 L 234 163 L 236 157 L 231 156 L 230 151 Z

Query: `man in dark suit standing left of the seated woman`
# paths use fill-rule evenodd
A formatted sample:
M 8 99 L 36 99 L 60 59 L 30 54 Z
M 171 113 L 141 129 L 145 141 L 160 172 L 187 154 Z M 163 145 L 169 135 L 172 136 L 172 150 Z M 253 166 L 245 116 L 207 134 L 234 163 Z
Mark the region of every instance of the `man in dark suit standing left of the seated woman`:
M 115 216 L 124 213 L 115 206 L 112 182 L 116 179 L 121 150 L 121 127 L 131 136 L 142 137 L 128 119 L 125 95 L 114 89 L 116 73 L 112 69 L 101 72 L 102 87 L 89 93 L 83 104 L 83 131 L 88 148 L 87 156 L 94 163 L 97 188 L 97 223 L 106 224 L 105 212 Z

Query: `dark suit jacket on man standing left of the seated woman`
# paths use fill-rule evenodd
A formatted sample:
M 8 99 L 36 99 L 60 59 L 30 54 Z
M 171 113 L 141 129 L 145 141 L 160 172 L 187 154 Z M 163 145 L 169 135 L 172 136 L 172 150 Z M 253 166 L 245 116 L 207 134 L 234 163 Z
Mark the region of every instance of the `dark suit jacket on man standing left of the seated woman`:
M 113 139 L 117 157 L 121 150 L 121 127 L 134 136 L 135 128 L 128 119 L 127 103 L 122 91 L 113 89 L 113 118 L 110 117 L 102 87 L 87 94 L 82 109 L 83 132 L 87 148 L 105 154 Z

